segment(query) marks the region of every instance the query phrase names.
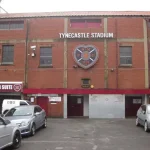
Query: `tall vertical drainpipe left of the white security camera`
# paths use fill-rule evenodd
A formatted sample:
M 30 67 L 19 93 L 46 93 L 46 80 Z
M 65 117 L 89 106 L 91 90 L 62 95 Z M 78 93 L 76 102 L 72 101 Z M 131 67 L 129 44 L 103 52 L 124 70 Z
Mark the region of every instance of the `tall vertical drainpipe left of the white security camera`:
M 25 47 L 26 47 L 26 53 L 25 53 L 25 72 L 24 72 L 24 87 L 28 87 L 28 40 L 29 40 L 29 19 L 27 19 L 26 22 L 26 42 L 25 42 Z

